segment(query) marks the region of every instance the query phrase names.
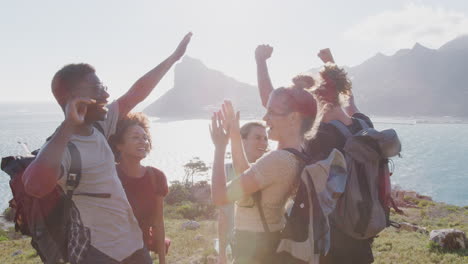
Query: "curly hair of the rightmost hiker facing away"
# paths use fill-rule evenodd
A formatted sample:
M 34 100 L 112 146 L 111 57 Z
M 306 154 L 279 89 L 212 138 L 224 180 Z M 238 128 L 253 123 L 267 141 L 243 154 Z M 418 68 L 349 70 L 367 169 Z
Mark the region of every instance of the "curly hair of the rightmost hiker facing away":
M 339 95 L 350 95 L 352 83 L 348 73 L 334 63 L 326 63 L 320 71 L 322 82 L 313 91 L 320 102 L 339 105 Z

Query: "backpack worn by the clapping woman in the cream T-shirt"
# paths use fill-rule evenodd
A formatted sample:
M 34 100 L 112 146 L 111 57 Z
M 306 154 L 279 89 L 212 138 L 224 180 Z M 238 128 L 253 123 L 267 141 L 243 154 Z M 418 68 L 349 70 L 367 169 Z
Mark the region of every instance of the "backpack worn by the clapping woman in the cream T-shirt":
M 344 191 L 345 159 L 336 149 L 318 162 L 296 149 L 284 150 L 300 161 L 299 185 L 294 204 L 285 214 L 286 225 L 280 233 L 276 263 L 318 263 L 320 254 L 325 254 L 330 247 L 328 215 Z M 264 230 L 269 233 L 260 199 L 256 201 Z

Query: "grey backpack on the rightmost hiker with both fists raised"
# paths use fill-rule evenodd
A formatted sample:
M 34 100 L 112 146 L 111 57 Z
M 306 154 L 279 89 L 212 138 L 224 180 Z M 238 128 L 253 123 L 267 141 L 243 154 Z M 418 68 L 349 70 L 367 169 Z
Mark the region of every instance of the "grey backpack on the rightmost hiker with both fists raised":
M 340 121 L 330 122 L 346 138 L 346 187 L 330 215 L 341 231 L 356 239 L 375 237 L 390 225 L 388 159 L 401 151 L 393 129 L 377 131 L 357 119 L 362 130 L 352 134 Z

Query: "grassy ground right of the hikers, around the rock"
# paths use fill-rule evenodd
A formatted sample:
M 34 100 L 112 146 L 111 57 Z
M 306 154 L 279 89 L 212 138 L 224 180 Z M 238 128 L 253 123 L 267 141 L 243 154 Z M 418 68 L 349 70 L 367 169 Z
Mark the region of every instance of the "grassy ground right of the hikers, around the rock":
M 404 209 L 405 215 L 392 214 L 397 222 L 408 222 L 434 229 L 456 228 L 468 233 L 468 207 L 444 203 L 416 201 L 421 208 Z M 387 228 L 375 239 L 373 245 L 375 263 L 468 263 L 468 249 L 447 251 L 418 232 Z

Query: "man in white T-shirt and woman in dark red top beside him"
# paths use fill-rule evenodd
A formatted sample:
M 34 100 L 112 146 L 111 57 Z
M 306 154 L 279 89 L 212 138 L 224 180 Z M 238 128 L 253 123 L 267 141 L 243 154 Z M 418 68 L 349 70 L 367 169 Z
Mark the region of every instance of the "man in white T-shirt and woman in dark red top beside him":
M 66 65 L 53 77 L 52 93 L 65 119 L 22 180 L 34 197 L 45 197 L 56 185 L 67 192 L 71 161 L 76 159 L 69 145 L 78 150 L 81 175 L 70 208 L 70 263 L 150 264 L 149 250 L 158 253 L 159 263 L 166 263 L 167 181 L 160 170 L 141 165 L 151 149 L 149 122 L 131 110 L 185 54 L 191 36 L 111 103 L 107 87 L 89 64 Z

